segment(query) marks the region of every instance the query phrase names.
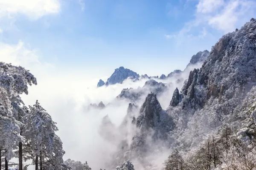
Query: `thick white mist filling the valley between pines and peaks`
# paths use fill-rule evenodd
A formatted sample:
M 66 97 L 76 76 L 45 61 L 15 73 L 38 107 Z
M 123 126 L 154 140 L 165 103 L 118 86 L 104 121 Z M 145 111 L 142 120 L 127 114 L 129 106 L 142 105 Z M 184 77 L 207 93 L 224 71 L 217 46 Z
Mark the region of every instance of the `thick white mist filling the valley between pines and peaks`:
M 136 82 L 126 79 L 122 84 L 97 88 L 99 78 L 84 78 L 86 73 L 83 71 L 57 68 L 49 63 L 41 63 L 38 58 L 32 58 L 33 60 L 29 60 L 30 62 L 24 62 L 24 60 L 15 57 L 3 60 L 21 65 L 37 77 L 38 85 L 29 87 L 29 94 L 21 96 L 25 104 L 33 105 L 38 99 L 40 104 L 52 116 L 52 119 L 57 122 L 59 129 L 57 134 L 60 136 L 66 152 L 64 160 L 70 158 L 75 161 L 87 161 L 92 169 L 107 168 L 105 167 L 106 164 L 112 160 L 113 153 L 116 153 L 118 149 L 116 144 L 122 140 L 123 136 L 116 129 L 127 114 L 130 102 L 128 100 L 117 100 L 116 96 L 120 94 L 123 88 L 136 89 L 143 87 L 148 79 L 140 79 Z M 200 67 L 200 64 L 192 65 L 181 74 L 176 74 L 169 79 L 155 79 L 157 82 L 165 83 L 168 87 L 167 91 L 158 97 L 163 109 L 169 106 L 175 88 L 181 89 L 190 70 Z M 170 69 L 170 72 L 172 71 Z M 106 77 L 109 76 L 106 75 Z M 178 79 L 180 81 L 177 81 Z M 137 101 L 136 104 L 139 108 L 144 100 L 145 98 L 142 97 L 140 101 Z M 86 109 L 91 103 L 98 104 L 101 101 L 106 105 L 105 109 Z M 134 114 L 138 115 L 138 112 Z M 99 134 L 102 118 L 106 115 L 116 128 L 115 141 L 106 141 Z M 131 129 L 128 132 L 131 132 Z M 127 141 L 131 141 L 132 137 L 133 134 L 128 135 L 129 139 Z M 158 142 L 158 144 L 161 145 L 161 142 Z M 154 144 L 155 152 L 145 158 L 151 160 L 153 167 L 158 166 L 158 168 L 171 152 L 168 148 L 164 148 L 165 153 L 163 153 L 163 150 L 159 150 L 163 146 L 159 145 Z M 140 164 L 133 163 L 136 169 L 140 170 L 142 168 Z M 32 166 L 29 169 L 32 169 Z

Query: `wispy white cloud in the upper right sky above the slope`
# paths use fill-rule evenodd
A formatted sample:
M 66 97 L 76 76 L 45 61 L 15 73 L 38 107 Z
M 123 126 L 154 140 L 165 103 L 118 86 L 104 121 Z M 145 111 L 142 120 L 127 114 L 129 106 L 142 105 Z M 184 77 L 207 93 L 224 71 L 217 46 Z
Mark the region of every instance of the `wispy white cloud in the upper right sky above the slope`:
M 255 16 L 255 11 L 256 2 L 253 0 L 199 0 L 195 6 L 194 19 L 168 37 L 175 37 L 177 43 L 181 44 L 191 37 L 206 37 L 208 30 L 226 34 L 249 21 Z

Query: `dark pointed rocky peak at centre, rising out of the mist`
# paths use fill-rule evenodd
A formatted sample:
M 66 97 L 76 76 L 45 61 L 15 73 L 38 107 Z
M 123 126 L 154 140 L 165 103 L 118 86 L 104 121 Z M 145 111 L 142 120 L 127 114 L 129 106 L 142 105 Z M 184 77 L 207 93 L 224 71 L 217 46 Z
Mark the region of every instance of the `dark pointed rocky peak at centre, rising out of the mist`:
M 163 109 L 157 100 L 156 94 L 148 94 L 140 108 L 140 115 L 137 118 L 137 127 L 142 130 L 155 127 L 160 121 L 161 111 L 163 111 Z

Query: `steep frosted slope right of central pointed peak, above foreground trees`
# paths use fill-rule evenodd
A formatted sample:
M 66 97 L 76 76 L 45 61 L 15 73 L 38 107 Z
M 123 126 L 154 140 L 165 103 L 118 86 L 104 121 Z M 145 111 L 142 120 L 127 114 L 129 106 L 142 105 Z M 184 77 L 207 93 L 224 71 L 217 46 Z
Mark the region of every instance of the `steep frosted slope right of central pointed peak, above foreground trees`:
M 177 129 L 175 144 L 193 147 L 224 123 L 239 128 L 241 101 L 256 85 L 256 20 L 228 33 L 212 47 L 202 68 L 190 72 L 172 97 L 168 113 Z M 174 137 L 175 138 L 175 137 Z

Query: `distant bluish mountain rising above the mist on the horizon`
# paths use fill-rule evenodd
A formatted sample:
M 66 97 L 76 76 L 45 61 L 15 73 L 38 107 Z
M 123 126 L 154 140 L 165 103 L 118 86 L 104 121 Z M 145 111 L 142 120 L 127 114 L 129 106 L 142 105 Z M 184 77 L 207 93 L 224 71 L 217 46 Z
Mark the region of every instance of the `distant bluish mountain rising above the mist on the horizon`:
M 115 71 L 113 72 L 113 74 L 111 75 L 111 77 L 108 78 L 108 81 L 106 83 L 104 83 L 101 79 L 98 82 L 97 87 L 100 87 L 104 84 L 107 85 L 114 85 L 116 83 L 122 83 L 125 79 L 127 79 L 128 77 L 130 77 L 131 79 L 136 79 L 139 78 L 140 75 L 137 74 L 134 71 L 131 71 L 128 68 L 124 68 L 124 67 L 119 67 L 116 68 Z

